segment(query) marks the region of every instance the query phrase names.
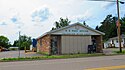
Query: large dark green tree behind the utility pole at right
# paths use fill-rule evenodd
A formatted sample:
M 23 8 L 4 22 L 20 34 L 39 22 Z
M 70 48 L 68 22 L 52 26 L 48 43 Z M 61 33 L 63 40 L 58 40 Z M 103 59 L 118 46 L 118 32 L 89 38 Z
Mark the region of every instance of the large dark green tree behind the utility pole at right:
M 107 15 L 103 22 L 101 22 L 101 26 L 96 26 L 96 30 L 102 31 L 105 33 L 103 37 L 104 40 L 108 40 L 109 38 L 117 36 L 117 26 L 116 21 L 117 17 L 113 17 L 112 15 Z M 125 34 L 125 16 L 120 19 L 121 23 L 121 34 Z

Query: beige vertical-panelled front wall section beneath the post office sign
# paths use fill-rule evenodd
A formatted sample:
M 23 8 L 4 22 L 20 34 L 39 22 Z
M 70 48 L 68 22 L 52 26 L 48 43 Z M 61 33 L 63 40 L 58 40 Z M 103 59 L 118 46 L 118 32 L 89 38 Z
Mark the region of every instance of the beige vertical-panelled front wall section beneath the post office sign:
M 91 36 L 62 36 L 62 54 L 87 53 L 88 45 L 91 45 Z

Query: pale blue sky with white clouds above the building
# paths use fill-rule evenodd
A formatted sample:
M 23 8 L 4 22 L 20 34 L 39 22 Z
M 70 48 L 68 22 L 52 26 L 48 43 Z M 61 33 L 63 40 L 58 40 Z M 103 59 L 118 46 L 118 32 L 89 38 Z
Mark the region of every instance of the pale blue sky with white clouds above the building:
M 125 1 L 125 0 L 121 0 Z M 117 16 L 116 3 L 86 0 L 0 0 L 0 35 L 10 42 L 21 35 L 37 38 L 49 31 L 60 17 L 72 23 L 86 21 L 95 28 L 108 14 Z M 120 4 L 120 16 L 125 15 L 125 4 Z

